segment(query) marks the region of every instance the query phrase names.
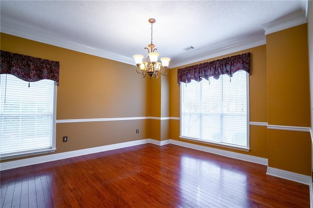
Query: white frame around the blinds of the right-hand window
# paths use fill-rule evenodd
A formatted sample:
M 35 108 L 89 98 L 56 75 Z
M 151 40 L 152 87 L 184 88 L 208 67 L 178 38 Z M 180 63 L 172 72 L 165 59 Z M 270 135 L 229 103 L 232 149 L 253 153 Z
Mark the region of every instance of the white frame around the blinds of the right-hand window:
M 242 70 L 240 70 L 242 71 Z M 212 78 L 214 79 L 214 78 Z M 202 82 L 202 81 L 201 81 Z M 181 135 L 181 123 L 182 123 L 182 86 L 181 84 L 186 84 L 186 83 L 180 83 L 179 86 L 179 116 L 180 116 L 180 121 L 179 121 L 179 138 L 183 139 L 183 140 L 187 140 L 187 141 L 192 141 L 192 142 L 197 142 L 197 143 L 201 143 L 201 144 L 208 144 L 208 145 L 212 145 L 212 146 L 221 146 L 221 147 L 226 147 L 226 148 L 231 148 L 231 149 L 237 149 L 237 150 L 242 150 L 242 151 L 246 151 L 248 152 L 250 150 L 250 87 L 249 87 L 249 74 L 246 73 L 246 147 L 243 146 L 237 146 L 237 145 L 231 145 L 231 144 L 221 144 L 221 143 L 215 143 L 215 142 L 210 142 L 210 141 L 204 141 L 201 140 L 201 138 L 196 139 L 196 138 L 191 138 L 191 137 L 187 137 L 187 136 L 182 136 Z M 188 83 L 187 83 L 188 84 Z

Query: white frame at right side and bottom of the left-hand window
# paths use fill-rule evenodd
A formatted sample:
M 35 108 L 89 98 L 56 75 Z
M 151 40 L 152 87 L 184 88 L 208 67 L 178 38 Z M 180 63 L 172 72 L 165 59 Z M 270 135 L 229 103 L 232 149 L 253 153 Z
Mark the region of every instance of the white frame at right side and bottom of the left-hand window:
M 4 74 L 1 74 L 4 75 Z M 13 75 L 14 76 L 14 75 Z M 52 113 L 52 141 L 51 141 L 51 148 L 48 149 L 37 149 L 37 150 L 30 150 L 24 151 L 19 153 L 11 153 L 11 154 L 0 154 L 0 160 L 9 160 L 15 158 L 22 158 L 28 157 L 33 155 L 41 155 L 46 153 L 53 153 L 56 150 L 56 105 L 57 105 L 57 83 L 53 83 L 53 113 Z

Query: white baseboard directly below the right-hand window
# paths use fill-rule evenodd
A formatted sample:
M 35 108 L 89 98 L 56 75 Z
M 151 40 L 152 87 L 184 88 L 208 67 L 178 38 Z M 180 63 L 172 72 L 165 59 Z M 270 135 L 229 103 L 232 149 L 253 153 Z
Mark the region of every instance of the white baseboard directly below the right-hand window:
M 225 156 L 225 157 L 244 160 L 244 161 L 251 162 L 251 163 L 257 163 L 257 164 L 261 164 L 261 165 L 265 165 L 265 166 L 268 165 L 268 159 L 266 159 L 266 158 L 241 154 L 241 153 L 237 153 L 237 152 L 226 151 L 226 150 L 222 150 L 222 149 L 216 149 L 216 148 L 207 147 L 207 146 L 194 145 L 194 144 L 190 144 L 190 143 L 186 143 L 186 142 L 180 142 L 177 140 L 170 140 L 170 143 L 173 145 L 184 146 L 187 148 L 197 149 L 200 151 L 209 152 L 209 153 L 213 153 L 213 154 L 217 154 L 217 155 L 221 155 L 221 156 Z

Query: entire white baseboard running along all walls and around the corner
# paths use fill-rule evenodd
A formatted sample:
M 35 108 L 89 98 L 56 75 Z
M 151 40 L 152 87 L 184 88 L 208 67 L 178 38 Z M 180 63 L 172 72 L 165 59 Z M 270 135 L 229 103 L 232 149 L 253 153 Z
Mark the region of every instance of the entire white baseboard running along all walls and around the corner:
M 200 150 L 204 152 L 209 152 L 209 153 L 213 153 L 213 154 L 217 154 L 217 155 L 221 155 L 221 156 L 225 156 L 229 158 L 244 160 L 244 161 L 248 161 L 251 163 L 257 163 L 257 164 L 268 166 L 268 159 L 266 158 L 226 151 L 222 149 L 211 148 L 207 146 L 190 144 L 190 143 L 181 142 L 181 141 L 172 140 L 172 139 L 164 140 L 164 141 L 157 141 L 154 139 L 143 139 L 143 140 L 136 140 L 136 141 L 131 141 L 131 142 L 118 143 L 118 144 L 113 144 L 113 145 L 98 146 L 98 147 L 92 147 L 92 148 L 87 148 L 87 149 L 80 149 L 80 150 L 75 150 L 75 151 L 3 162 L 3 163 L 0 163 L 0 170 L 7 170 L 7 169 L 17 168 L 17 167 L 22 167 L 22 166 L 31 166 L 31 165 L 40 164 L 40 163 L 46 163 L 46 162 L 62 160 L 62 159 L 71 158 L 71 157 L 77 157 L 81 155 L 87 155 L 87 154 L 109 151 L 113 149 L 119 149 L 119 148 L 136 146 L 136 145 L 142 145 L 142 144 L 147 144 L 147 143 L 151 143 L 151 144 L 158 145 L 158 146 L 173 144 L 177 146 L 183 146 L 183 147 L 192 148 L 192 149 L 196 149 L 196 150 Z M 286 170 L 276 169 L 273 167 L 268 167 L 267 174 L 312 186 L 312 178 L 310 176 L 293 173 L 293 172 L 289 172 Z M 310 192 L 311 192 L 311 189 L 310 189 Z

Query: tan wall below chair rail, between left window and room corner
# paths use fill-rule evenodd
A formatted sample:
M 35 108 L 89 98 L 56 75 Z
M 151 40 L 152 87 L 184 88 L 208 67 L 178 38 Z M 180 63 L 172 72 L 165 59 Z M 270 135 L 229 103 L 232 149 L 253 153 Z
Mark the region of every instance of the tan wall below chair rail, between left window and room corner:
M 55 153 L 147 139 L 149 126 L 148 119 L 57 124 Z M 68 137 L 66 143 L 62 142 L 63 136 Z

